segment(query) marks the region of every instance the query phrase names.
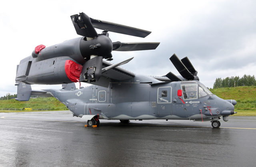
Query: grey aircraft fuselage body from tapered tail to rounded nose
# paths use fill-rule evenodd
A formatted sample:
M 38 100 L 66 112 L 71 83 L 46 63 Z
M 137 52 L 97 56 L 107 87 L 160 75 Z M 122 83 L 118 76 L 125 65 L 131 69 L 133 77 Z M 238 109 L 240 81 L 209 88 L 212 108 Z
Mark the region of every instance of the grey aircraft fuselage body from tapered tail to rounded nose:
M 140 83 L 140 79 L 158 82 L 150 76 L 136 76 L 133 83 L 110 83 L 108 87 L 91 85 L 71 91 L 47 89 L 75 116 L 99 115 L 99 119 L 192 119 L 218 120 L 234 112 L 232 103 L 216 95 L 198 98 L 199 81 L 162 84 Z M 197 87 L 193 99 L 177 95 L 181 85 Z M 164 92 L 164 93 L 163 93 Z M 211 111 L 209 111 L 209 109 Z

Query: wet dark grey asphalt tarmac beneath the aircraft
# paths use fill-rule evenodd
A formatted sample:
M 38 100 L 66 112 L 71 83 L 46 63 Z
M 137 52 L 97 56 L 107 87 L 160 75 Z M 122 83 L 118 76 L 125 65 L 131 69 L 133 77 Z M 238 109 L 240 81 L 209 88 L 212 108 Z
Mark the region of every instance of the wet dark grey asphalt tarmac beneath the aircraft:
M 0 166 L 256 166 L 256 117 L 101 120 L 70 111 L 0 113 Z

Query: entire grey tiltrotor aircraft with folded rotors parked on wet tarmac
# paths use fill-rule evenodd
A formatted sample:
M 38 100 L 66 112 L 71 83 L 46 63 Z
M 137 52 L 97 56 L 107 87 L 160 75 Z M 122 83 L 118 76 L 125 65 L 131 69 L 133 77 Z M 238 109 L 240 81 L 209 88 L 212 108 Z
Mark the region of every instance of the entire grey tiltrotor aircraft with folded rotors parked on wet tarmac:
M 151 32 L 96 20 L 84 13 L 72 15 L 77 34 L 82 37 L 54 46 L 39 45 L 31 56 L 17 66 L 16 100 L 28 101 L 30 95 L 50 95 L 66 105 L 74 116 L 82 117 L 89 127 L 99 119 L 119 119 L 123 123 L 142 119 L 189 119 L 211 121 L 220 127 L 220 117 L 228 121 L 234 112 L 235 100 L 213 95 L 199 82 L 190 60 L 175 54 L 171 62 L 181 76 L 169 72 L 162 77 L 134 74 L 118 66 L 132 58 L 111 64 L 112 50 L 154 50 L 157 42 L 112 42 L 108 32 L 146 37 Z M 98 34 L 94 28 L 104 30 Z M 91 86 L 76 89 L 74 82 Z M 31 84 L 63 84 L 60 90 L 32 91 Z

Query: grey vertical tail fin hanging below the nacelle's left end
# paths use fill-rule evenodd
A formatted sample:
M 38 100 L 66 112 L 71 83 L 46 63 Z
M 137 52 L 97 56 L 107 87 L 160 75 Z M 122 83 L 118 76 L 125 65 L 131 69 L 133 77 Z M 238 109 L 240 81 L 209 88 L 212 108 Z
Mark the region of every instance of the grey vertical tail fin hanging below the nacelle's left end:
M 31 85 L 22 82 L 16 82 L 17 87 L 17 98 L 18 101 L 28 101 L 32 92 Z

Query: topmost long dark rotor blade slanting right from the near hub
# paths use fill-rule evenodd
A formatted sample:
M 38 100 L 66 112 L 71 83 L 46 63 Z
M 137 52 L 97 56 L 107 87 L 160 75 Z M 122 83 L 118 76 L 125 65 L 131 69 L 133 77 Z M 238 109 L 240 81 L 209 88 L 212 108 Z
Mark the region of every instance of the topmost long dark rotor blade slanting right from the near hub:
M 107 21 L 103 21 L 103 20 L 97 20 L 97 19 L 93 19 L 93 18 L 90 18 L 90 19 L 91 19 L 93 27 L 98 28 L 100 30 L 108 30 L 111 32 L 126 34 L 126 35 L 130 35 L 130 36 L 138 36 L 141 38 L 145 38 L 146 36 L 148 36 L 151 33 L 150 31 L 147 31 L 147 30 L 142 30 L 142 29 L 134 28 L 134 27 L 130 27 L 130 26 L 124 26 L 122 24 L 116 24 L 116 23 L 107 22 Z

